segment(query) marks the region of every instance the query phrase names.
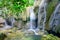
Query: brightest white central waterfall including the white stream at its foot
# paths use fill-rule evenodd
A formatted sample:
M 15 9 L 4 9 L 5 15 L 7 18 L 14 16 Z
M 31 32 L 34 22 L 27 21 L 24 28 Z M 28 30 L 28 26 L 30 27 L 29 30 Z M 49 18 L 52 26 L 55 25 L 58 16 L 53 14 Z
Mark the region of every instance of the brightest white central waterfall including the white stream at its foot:
M 35 29 L 36 16 L 34 14 L 33 8 L 30 8 L 30 29 L 28 31 L 33 31 L 35 35 L 38 35 Z

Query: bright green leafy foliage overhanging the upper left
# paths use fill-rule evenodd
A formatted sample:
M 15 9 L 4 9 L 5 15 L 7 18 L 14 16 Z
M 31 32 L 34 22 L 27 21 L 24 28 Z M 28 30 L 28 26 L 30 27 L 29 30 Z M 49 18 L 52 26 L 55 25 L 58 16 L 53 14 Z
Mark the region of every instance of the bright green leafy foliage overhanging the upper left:
M 0 0 L 0 8 L 7 16 L 13 15 L 18 18 L 25 8 L 33 5 L 33 3 L 34 0 Z

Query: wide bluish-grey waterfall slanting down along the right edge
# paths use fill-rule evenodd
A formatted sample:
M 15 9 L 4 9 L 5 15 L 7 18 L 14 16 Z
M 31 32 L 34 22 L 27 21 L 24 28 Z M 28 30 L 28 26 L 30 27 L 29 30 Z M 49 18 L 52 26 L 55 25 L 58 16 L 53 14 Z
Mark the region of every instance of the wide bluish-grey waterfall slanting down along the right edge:
M 55 11 L 51 15 L 49 26 L 51 30 L 55 31 L 60 26 L 60 3 L 55 8 Z

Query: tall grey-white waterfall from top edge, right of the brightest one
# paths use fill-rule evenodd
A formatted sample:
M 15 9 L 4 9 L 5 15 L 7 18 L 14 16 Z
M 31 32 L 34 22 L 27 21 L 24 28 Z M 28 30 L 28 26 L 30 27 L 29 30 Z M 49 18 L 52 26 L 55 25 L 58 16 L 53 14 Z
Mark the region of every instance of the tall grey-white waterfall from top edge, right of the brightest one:
M 38 27 L 44 31 L 46 22 L 46 0 L 41 0 L 38 12 Z

